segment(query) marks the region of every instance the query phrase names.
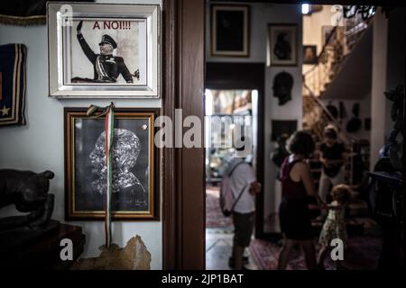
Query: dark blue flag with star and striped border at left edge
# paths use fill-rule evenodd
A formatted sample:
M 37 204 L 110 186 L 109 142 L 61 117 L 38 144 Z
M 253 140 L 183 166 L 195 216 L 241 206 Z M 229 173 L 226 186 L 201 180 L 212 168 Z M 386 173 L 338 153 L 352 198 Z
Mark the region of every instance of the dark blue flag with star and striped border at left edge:
M 23 44 L 0 46 L 0 126 L 25 125 L 25 60 Z

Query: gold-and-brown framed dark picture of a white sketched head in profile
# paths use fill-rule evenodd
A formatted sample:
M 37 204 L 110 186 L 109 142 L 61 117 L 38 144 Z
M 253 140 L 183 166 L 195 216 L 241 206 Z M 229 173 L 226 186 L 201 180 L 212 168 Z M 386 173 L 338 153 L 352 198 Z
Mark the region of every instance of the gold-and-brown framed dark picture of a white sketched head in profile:
M 158 220 L 155 110 L 115 108 L 112 219 Z M 106 117 L 65 108 L 66 220 L 103 220 L 106 207 Z

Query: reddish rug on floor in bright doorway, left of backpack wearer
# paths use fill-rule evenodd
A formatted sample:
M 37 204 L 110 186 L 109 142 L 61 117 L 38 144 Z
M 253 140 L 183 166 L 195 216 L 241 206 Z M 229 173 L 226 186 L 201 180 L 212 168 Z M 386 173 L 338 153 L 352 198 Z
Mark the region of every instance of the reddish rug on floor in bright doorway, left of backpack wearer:
M 220 187 L 206 187 L 206 228 L 230 228 L 231 217 L 224 217 L 219 204 Z

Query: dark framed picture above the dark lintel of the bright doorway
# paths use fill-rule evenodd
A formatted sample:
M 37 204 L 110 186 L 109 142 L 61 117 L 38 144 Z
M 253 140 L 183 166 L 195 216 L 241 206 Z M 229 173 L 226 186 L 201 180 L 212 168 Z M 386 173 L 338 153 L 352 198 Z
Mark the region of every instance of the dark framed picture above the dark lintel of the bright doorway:
M 211 56 L 249 57 L 250 6 L 211 5 Z

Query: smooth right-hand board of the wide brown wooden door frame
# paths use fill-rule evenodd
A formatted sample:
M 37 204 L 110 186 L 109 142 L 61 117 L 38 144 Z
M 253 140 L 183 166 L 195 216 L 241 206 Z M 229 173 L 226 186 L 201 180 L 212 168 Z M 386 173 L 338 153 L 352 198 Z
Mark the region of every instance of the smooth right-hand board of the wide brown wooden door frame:
M 204 123 L 204 1 L 182 1 L 181 103 L 183 117 L 196 115 Z M 202 144 L 204 134 L 202 130 Z M 183 267 L 205 267 L 205 151 L 182 148 Z

